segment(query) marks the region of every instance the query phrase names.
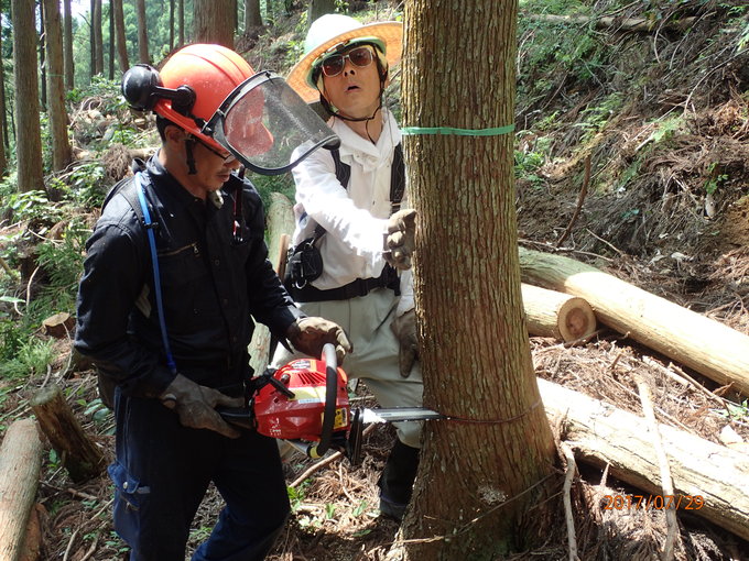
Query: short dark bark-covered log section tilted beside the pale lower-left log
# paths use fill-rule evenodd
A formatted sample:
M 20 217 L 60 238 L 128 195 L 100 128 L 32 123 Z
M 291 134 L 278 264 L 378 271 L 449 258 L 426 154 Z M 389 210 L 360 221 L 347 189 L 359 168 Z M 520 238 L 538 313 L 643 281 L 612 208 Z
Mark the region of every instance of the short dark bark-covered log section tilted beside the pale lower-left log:
M 104 453 L 84 432 L 59 386 L 41 389 L 31 399 L 31 408 L 74 482 L 83 483 L 101 473 Z

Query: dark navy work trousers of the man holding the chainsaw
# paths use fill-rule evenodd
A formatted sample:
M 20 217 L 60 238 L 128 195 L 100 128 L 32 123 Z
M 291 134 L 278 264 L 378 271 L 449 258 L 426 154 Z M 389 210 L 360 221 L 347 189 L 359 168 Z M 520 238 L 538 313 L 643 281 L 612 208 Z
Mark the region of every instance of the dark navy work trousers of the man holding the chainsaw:
M 274 439 L 188 429 L 158 399 L 116 393 L 115 529 L 131 561 L 184 561 L 191 522 L 213 481 L 226 502 L 193 561 L 260 561 L 289 515 Z

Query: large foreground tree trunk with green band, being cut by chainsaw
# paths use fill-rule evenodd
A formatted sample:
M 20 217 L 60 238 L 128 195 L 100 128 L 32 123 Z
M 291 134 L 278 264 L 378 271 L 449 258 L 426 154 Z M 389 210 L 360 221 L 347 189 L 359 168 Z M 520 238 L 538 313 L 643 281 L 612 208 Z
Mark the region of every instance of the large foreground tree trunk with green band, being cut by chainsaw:
M 513 122 L 517 10 L 405 2 L 406 127 Z M 535 538 L 520 526 L 529 507 L 539 521 L 551 507 L 555 449 L 523 323 L 512 144 L 511 134 L 405 136 L 424 404 L 466 419 L 424 427 L 405 559 L 495 559 Z

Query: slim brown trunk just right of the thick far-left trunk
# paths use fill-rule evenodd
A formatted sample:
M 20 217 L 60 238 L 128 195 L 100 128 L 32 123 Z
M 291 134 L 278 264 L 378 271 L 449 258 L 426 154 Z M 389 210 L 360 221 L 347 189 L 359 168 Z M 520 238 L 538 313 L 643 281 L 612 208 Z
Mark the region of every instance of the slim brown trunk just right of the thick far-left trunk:
M 67 111 L 65 110 L 65 84 L 63 73 L 63 34 L 59 21 L 59 0 L 43 0 L 44 29 L 47 59 L 47 113 L 52 138 L 52 169 L 59 172 L 70 163 L 70 142 L 67 138 Z

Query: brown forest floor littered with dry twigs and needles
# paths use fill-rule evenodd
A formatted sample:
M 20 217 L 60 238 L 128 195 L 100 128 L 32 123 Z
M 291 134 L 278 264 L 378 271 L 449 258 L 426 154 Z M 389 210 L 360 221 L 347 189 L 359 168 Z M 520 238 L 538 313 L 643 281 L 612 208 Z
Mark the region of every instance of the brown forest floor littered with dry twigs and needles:
M 552 76 L 558 88 L 550 95 L 528 102 L 519 99 L 518 128 L 522 131 L 518 150 L 538 152 L 542 136 L 551 146 L 533 173 L 521 174 L 518 179 L 519 238 L 524 246 L 562 251 L 749 334 L 749 56 L 746 51 L 740 56 L 728 51 L 721 54 L 717 47 L 710 51 L 706 45 L 717 43 L 715 37 L 727 41 L 726 36 L 709 11 L 695 13 L 699 21 L 688 44 L 690 48 L 705 48 L 699 61 L 681 36 L 612 32 L 609 41 L 616 43 L 617 64 L 621 66 L 611 63 L 610 81 L 579 89 L 569 76 Z M 524 34 L 521 44 L 528 38 Z M 273 52 L 275 41 L 280 40 L 261 36 L 256 48 Z M 279 53 L 284 56 L 285 52 Z M 523 56 L 521 51 L 521 65 Z M 644 62 L 659 57 L 670 59 L 671 66 L 661 65 L 656 72 L 654 63 Z M 633 67 L 636 61 L 640 67 Z M 679 72 L 672 72 L 672 67 Z M 629 86 L 620 79 L 622 73 Z M 639 77 L 651 79 L 653 73 L 660 73 L 658 89 L 638 95 L 627 90 Z M 608 75 L 601 73 L 599 78 L 603 76 Z M 619 76 L 618 82 L 615 76 Z M 610 99 L 612 91 L 628 101 L 594 134 L 583 138 L 579 123 L 585 109 Z M 540 132 L 539 114 L 554 112 L 562 116 L 555 127 Z M 665 129 L 663 120 L 655 121 L 667 114 L 679 116 L 680 123 L 665 131 L 667 143 L 658 143 L 655 133 Z M 572 235 L 556 249 L 578 206 L 588 156 L 590 188 Z M 627 183 L 621 180 L 625 176 Z M 69 341 L 61 340 L 58 346 L 59 359 L 50 371 L 52 375 L 30 380 L 6 394 L 0 405 L 2 421 L 28 416 L 29 396 L 44 384 L 58 382 L 66 387 L 84 428 L 111 459 L 113 420 L 108 411 L 91 407 L 97 397 L 95 376 L 84 371 L 56 380 L 54 373 L 66 370 Z M 603 327 L 594 339 L 575 345 L 533 337 L 530 349 L 541 377 L 642 415 L 636 376 L 644 376 L 660 422 L 716 443 L 721 443 L 720 432 L 729 426 L 740 439 L 749 441 L 745 397 L 672 364 L 625 333 Z M 707 392 L 665 374 L 667 370 L 677 373 L 680 367 Z M 336 461 L 295 484 L 291 493 L 293 515 L 269 559 L 387 559 L 398 526 L 378 517 L 377 479 L 392 437 L 391 427 L 378 426 L 365 441 L 360 466 L 352 469 L 346 460 Z M 48 448 L 47 454 L 39 491 L 42 559 L 127 559 L 127 549 L 111 526 L 112 487 L 106 473 L 76 485 Z M 290 485 L 310 466 L 311 462 L 302 458 L 289 460 L 285 470 Z M 579 465 L 573 504 L 580 559 L 659 559 L 665 536 L 662 510 L 606 508 L 606 495 L 632 491 L 605 471 Z M 194 522 L 191 551 L 207 537 L 219 508 L 220 497 L 211 490 Z M 749 559 L 749 543 L 726 530 L 683 510 L 679 522 L 677 560 Z M 566 539 L 560 505 L 558 524 L 545 542 L 512 559 L 568 559 Z

